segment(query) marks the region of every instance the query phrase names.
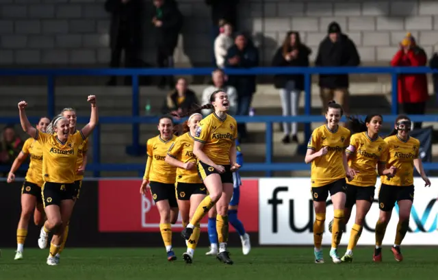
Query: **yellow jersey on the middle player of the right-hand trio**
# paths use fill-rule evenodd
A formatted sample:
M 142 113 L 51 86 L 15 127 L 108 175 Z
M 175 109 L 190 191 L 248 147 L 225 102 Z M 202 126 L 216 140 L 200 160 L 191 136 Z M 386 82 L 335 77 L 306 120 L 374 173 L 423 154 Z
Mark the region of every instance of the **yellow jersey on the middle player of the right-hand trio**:
M 350 146 L 346 149 L 350 154 L 348 166 L 358 170 L 350 185 L 359 187 L 376 186 L 377 164 L 386 164 L 389 157 L 388 144 L 381 137 L 372 140 L 366 132 L 355 133 L 350 138 Z

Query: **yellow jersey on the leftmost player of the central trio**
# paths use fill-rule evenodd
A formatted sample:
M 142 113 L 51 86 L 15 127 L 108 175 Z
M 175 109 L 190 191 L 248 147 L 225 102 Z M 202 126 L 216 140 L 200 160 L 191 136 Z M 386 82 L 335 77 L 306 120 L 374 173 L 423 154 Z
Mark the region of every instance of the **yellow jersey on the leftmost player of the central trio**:
M 177 140 L 177 136 L 175 135 L 172 135 L 172 138 L 167 141 L 162 140 L 160 136 L 156 136 L 148 140 L 146 144 L 146 151 L 148 157 L 150 157 L 152 161 L 149 174 L 148 176 L 145 174 L 145 177 L 149 177 L 149 181 L 155 181 L 159 183 L 175 183 L 177 168 L 164 161 L 166 159 L 168 149 L 175 142 L 175 140 Z

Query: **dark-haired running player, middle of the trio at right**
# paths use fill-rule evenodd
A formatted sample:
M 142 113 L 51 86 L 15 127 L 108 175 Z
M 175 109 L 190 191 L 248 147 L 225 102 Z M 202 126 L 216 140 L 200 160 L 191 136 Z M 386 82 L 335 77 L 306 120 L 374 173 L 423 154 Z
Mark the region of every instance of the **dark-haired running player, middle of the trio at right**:
M 348 223 L 351 209 L 356 204 L 355 225 L 352 226 L 347 251 L 342 262 L 352 262 L 353 249 L 361 236 L 363 221 L 370 211 L 376 189 L 376 166 L 379 175 L 394 176 L 396 168 L 385 169 L 388 160 L 388 145 L 378 136 L 383 118 L 379 114 L 370 114 L 362 122 L 350 118 L 352 136 L 350 146 L 346 149 L 350 168 L 359 173 L 347 183 L 347 200 L 344 212 L 344 225 Z

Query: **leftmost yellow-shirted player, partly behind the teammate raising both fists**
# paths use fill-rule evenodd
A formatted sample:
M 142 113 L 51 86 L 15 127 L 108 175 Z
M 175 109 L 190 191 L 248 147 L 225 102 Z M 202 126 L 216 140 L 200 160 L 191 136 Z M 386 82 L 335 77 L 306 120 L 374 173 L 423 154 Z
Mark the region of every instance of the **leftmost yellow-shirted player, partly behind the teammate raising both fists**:
M 46 132 L 49 125 L 49 118 L 43 116 L 38 121 L 36 129 Z M 27 236 L 27 227 L 32 212 L 34 211 L 34 223 L 37 226 L 42 225 L 44 220 L 44 207 L 42 207 L 41 187 L 42 183 L 42 147 L 34 138 L 29 138 L 23 145 L 21 153 L 14 160 L 11 170 L 8 174 L 8 183 L 15 181 L 15 172 L 21 164 L 30 155 L 29 169 L 26 173 L 25 182 L 21 188 L 21 216 L 16 229 L 16 254 L 14 259 L 23 259 L 23 250 Z

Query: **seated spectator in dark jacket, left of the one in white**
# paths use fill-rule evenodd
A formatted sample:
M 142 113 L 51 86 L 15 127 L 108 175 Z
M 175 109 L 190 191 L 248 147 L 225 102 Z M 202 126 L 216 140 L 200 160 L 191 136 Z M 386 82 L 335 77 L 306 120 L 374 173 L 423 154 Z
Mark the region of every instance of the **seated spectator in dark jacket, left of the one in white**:
M 167 95 L 163 107 L 163 114 L 185 114 L 198 105 L 196 94 L 188 88 L 188 83 L 184 78 L 179 78 L 175 90 Z

